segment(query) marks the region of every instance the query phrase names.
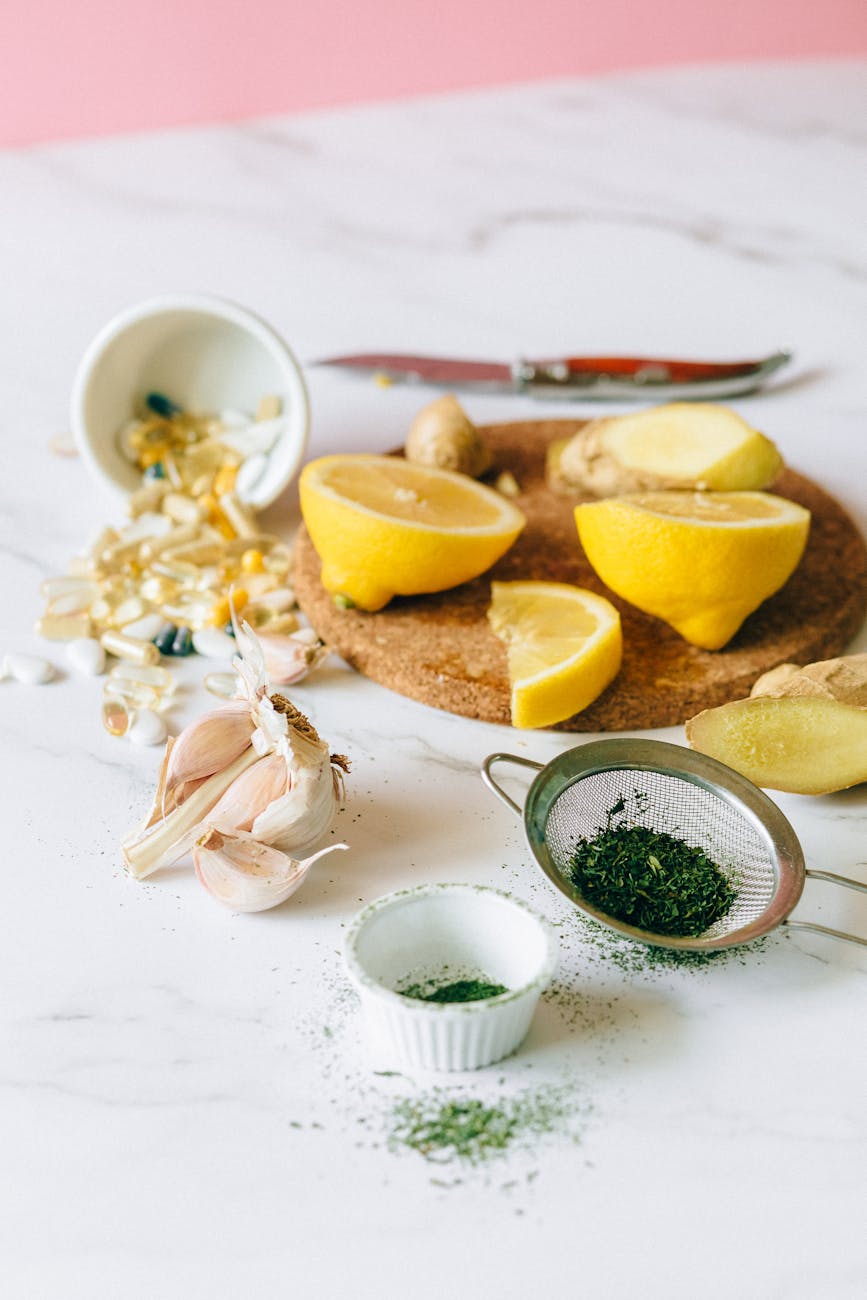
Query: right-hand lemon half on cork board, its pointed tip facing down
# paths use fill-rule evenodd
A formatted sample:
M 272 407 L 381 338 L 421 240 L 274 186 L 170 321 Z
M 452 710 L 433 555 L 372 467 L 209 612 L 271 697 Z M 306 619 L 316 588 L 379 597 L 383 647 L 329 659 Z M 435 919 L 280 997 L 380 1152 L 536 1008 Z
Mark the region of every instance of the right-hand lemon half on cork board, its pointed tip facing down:
M 630 604 L 719 650 L 788 581 L 810 512 L 763 491 L 656 491 L 577 506 L 585 554 Z

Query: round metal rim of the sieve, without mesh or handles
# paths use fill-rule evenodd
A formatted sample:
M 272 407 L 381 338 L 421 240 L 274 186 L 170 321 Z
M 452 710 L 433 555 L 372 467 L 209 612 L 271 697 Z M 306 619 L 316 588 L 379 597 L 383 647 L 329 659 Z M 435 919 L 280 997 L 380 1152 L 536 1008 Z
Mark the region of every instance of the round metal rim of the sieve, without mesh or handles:
M 658 935 L 617 920 L 593 907 L 554 863 L 546 845 L 547 815 L 556 800 L 589 776 L 611 771 L 656 772 L 693 784 L 720 798 L 745 818 L 768 849 L 773 893 L 764 910 L 745 926 L 712 937 Z M 519 810 L 520 811 L 520 810 Z M 524 831 L 536 862 L 551 884 L 591 920 L 628 939 L 655 948 L 714 952 L 749 944 L 783 924 L 798 904 L 806 880 L 803 850 L 777 805 L 740 772 L 715 758 L 668 741 L 614 740 L 577 745 L 547 763 L 530 784 L 523 809 Z

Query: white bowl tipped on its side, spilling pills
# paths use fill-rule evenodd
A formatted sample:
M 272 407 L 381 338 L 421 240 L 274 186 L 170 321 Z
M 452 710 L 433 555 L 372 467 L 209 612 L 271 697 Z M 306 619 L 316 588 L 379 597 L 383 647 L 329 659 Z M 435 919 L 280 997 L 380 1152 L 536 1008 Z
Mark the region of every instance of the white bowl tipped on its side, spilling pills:
M 151 298 L 92 341 L 73 384 L 71 428 L 91 472 L 116 493 L 140 485 L 117 436 L 152 391 L 188 411 L 251 416 L 263 396 L 281 398 L 285 426 L 247 495 L 252 506 L 276 500 L 300 468 L 309 428 L 300 367 L 270 325 L 246 308 L 195 294 Z

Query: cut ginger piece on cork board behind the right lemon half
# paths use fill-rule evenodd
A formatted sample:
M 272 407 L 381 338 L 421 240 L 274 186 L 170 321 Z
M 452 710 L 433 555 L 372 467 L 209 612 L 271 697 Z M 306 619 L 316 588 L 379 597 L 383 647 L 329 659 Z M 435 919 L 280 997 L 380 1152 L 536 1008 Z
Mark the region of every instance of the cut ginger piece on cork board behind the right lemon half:
M 783 467 L 764 434 L 728 407 L 672 402 L 591 420 L 549 454 L 554 490 L 617 497 L 682 488 L 760 491 Z

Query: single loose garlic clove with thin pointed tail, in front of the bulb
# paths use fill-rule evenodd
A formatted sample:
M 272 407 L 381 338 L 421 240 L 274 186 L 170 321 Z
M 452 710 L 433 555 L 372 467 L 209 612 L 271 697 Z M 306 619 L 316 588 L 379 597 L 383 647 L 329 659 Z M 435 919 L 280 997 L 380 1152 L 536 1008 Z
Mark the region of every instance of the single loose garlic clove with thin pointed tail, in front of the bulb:
M 226 836 L 211 829 L 196 844 L 196 875 L 217 902 L 233 911 L 266 911 L 303 884 L 313 863 L 347 844 L 329 844 L 309 858 L 290 858 L 252 835 Z

